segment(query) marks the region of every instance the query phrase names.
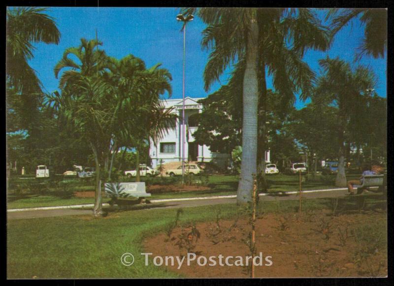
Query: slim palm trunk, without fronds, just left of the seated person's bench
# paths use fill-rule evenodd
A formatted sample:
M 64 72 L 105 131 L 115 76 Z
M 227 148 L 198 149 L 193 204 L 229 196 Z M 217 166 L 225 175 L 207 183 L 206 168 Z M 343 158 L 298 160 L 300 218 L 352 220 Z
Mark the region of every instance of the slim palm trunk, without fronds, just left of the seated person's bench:
M 335 178 L 336 187 L 346 187 L 346 174 L 345 174 L 345 146 L 344 146 L 344 133 L 346 126 L 346 114 L 344 110 L 343 98 L 339 99 L 339 128 L 338 128 L 338 143 L 339 143 L 339 154 L 338 154 L 338 173 Z

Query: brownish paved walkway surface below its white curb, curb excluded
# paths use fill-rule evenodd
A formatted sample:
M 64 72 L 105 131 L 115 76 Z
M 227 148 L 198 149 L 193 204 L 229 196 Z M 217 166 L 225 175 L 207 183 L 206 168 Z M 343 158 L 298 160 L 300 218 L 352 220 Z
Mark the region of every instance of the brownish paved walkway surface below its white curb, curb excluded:
M 344 190 L 333 190 L 333 191 L 316 191 L 316 192 L 305 192 L 302 193 L 303 198 L 329 198 L 329 197 L 340 197 L 344 196 L 347 191 Z M 275 201 L 275 200 L 297 200 L 299 195 L 297 193 L 292 194 L 269 194 L 260 197 L 260 201 Z M 170 201 L 162 203 L 151 203 L 146 205 L 131 206 L 128 209 L 130 211 L 141 211 L 141 210 L 152 210 L 157 208 L 187 208 L 197 207 L 206 205 L 217 205 L 217 204 L 235 204 L 235 198 L 217 198 L 217 199 L 199 199 L 199 200 L 183 200 L 183 201 Z M 115 210 L 113 207 L 104 207 L 104 210 L 110 212 Z M 90 209 L 57 209 L 57 210 L 30 210 L 20 212 L 9 212 L 7 213 L 8 220 L 15 219 L 33 219 L 33 218 L 45 218 L 45 217 L 59 217 L 59 216 L 74 216 L 74 215 L 87 215 L 92 214 Z

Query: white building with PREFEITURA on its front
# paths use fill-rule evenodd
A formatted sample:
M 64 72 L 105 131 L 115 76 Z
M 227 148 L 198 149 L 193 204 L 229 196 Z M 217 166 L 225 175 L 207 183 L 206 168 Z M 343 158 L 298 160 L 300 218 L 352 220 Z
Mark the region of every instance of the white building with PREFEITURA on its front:
M 229 155 L 212 153 L 208 146 L 198 145 L 195 143 L 193 133 L 197 130 L 197 121 L 192 115 L 202 112 L 202 104 L 197 100 L 202 98 L 185 98 L 185 161 L 199 161 L 210 162 L 214 161 L 219 165 L 225 165 Z M 155 145 L 153 141 L 150 142 L 149 156 L 152 159 L 152 167 L 156 168 L 158 165 L 168 162 L 179 161 L 182 162 L 182 99 L 167 99 L 163 100 L 165 108 L 174 108 L 179 118 L 176 120 L 174 126 L 168 128 L 167 134 Z

